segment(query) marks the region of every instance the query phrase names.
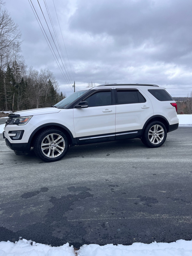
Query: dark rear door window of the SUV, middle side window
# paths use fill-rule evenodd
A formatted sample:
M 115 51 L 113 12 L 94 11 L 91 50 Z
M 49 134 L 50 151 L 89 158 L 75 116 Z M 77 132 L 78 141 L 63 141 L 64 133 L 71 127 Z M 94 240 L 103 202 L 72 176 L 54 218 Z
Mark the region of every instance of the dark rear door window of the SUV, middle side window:
M 116 90 L 117 104 L 143 103 L 146 99 L 137 90 Z

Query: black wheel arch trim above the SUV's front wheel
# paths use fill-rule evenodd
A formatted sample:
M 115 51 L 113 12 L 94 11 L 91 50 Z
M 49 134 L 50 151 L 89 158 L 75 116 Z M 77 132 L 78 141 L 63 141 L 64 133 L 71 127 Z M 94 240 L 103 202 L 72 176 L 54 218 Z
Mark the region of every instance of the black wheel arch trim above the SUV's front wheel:
M 33 146 L 34 139 L 37 136 L 37 134 L 40 133 L 41 131 L 43 131 L 44 129 L 47 129 L 47 128 L 61 130 L 62 132 L 64 132 L 66 134 L 70 145 L 76 145 L 77 144 L 76 138 L 73 137 L 71 131 L 67 127 L 65 127 L 64 125 L 58 124 L 58 123 L 46 123 L 46 124 L 41 125 L 38 128 L 36 128 L 32 132 L 32 134 L 30 135 L 28 142 L 30 143 L 31 147 Z

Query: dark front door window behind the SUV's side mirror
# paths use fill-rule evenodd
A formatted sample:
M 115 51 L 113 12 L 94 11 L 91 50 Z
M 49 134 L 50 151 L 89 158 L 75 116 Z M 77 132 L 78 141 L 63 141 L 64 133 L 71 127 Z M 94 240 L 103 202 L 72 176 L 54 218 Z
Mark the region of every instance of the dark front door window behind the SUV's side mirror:
M 88 102 L 89 107 L 112 105 L 111 104 L 111 90 L 96 92 L 95 94 L 86 98 L 85 101 Z

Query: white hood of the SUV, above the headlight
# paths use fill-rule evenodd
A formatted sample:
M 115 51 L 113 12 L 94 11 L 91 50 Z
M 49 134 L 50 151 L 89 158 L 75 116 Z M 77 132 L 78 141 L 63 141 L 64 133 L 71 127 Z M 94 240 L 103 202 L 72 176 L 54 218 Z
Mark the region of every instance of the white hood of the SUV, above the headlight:
M 51 113 L 58 113 L 61 109 L 55 107 L 43 107 L 43 108 L 34 108 L 28 110 L 22 110 L 14 112 L 16 115 L 20 116 L 34 116 L 34 115 L 43 115 L 43 114 L 51 114 Z

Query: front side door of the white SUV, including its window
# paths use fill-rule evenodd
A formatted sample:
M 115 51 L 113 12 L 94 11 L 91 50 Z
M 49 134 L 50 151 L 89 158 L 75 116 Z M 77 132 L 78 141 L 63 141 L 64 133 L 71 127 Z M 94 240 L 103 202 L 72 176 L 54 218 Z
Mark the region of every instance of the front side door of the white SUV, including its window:
M 78 140 L 87 143 L 114 140 L 116 106 L 112 104 L 112 90 L 98 89 L 82 101 L 86 108 L 73 108 L 73 122 Z

